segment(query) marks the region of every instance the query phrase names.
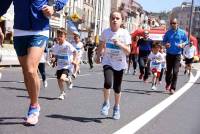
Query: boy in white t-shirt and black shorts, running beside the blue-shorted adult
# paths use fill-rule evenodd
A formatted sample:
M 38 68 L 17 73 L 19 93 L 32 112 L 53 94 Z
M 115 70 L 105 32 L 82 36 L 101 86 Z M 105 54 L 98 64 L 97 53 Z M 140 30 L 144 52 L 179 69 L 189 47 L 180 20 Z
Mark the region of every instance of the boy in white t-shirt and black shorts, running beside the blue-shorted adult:
M 65 98 L 64 83 L 67 82 L 68 88 L 72 88 L 72 80 L 69 73 L 72 72 L 76 65 L 77 50 L 67 42 L 66 30 L 61 28 L 57 31 L 58 44 L 52 47 L 52 52 L 57 60 L 57 81 L 60 88 L 60 96 L 58 99 Z M 54 59 L 55 60 L 55 59 Z

